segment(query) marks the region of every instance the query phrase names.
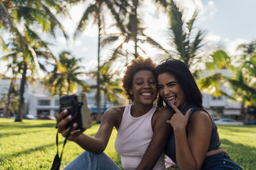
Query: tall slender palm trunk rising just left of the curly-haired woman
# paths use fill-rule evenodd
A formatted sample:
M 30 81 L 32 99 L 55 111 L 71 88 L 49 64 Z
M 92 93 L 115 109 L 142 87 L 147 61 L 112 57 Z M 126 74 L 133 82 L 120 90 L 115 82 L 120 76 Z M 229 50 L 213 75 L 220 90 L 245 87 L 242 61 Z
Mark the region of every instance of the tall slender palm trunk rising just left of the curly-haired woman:
M 99 8 L 98 8 L 98 72 L 97 72 L 97 123 L 100 123 L 101 121 L 101 112 L 100 112 L 100 32 L 101 32 L 101 21 L 100 21 L 100 5 L 101 2 L 99 2 Z

